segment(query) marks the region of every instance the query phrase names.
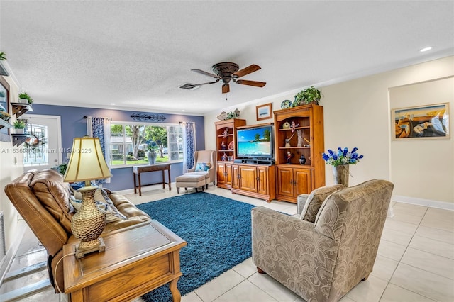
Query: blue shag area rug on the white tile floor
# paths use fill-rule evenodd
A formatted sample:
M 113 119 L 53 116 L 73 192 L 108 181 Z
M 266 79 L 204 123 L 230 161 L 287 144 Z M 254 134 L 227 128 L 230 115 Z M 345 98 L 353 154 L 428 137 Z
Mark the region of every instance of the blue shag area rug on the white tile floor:
M 182 296 L 252 256 L 250 210 L 254 206 L 248 203 L 199 192 L 137 207 L 186 240 L 179 253 Z M 172 301 L 168 284 L 142 298 Z

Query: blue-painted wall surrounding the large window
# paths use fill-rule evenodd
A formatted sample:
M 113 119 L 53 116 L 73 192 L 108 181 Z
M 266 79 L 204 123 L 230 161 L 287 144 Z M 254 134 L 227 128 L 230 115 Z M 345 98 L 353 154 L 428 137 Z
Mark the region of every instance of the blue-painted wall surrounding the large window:
M 139 113 L 138 111 L 122 111 L 113 109 L 99 109 L 99 108 L 82 108 L 70 106 L 54 106 L 33 104 L 33 112 L 27 114 L 40 114 L 48 116 L 60 116 L 62 121 L 62 149 L 72 147 L 73 138 L 80 138 L 87 135 L 87 120 L 84 116 L 94 116 L 102 118 L 112 118 L 112 122 L 134 122 L 131 114 Z M 140 112 L 145 113 L 145 112 Z M 205 149 L 205 119 L 203 116 L 184 116 L 179 114 L 165 114 L 165 123 L 179 123 L 179 122 L 195 122 L 196 123 L 196 150 Z M 66 154 L 63 156 L 63 161 L 66 160 Z M 181 162 L 172 164 L 170 168 L 172 181 L 175 177 L 182 174 L 183 164 Z M 133 183 L 133 168 L 116 168 L 111 169 L 112 178 L 110 184 L 105 184 L 107 188 L 112 191 L 119 191 L 125 189 L 132 189 Z M 165 173 L 167 177 L 167 172 Z M 152 184 L 162 179 L 161 172 L 151 172 L 141 175 L 142 184 Z M 166 189 L 168 186 L 166 185 Z M 175 189 L 175 188 L 174 188 Z

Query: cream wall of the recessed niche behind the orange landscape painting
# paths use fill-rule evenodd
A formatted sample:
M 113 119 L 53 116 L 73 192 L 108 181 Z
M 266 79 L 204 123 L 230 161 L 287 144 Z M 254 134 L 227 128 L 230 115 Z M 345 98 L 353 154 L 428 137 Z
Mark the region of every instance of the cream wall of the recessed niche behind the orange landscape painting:
M 437 103 L 448 103 L 450 108 L 453 108 L 453 100 L 454 77 L 389 89 L 391 108 Z M 452 201 L 453 160 L 452 134 L 451 138 L 392 140 L 391 179 L 396 185 L 394 194 L 435 201 Z

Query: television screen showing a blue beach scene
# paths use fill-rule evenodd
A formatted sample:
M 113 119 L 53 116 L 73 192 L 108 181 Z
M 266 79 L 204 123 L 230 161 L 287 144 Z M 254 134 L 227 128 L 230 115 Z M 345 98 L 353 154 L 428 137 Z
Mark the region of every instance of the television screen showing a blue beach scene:
M 248 129 L 238 132 L 238 155 L 272 155 L 271 129 Z

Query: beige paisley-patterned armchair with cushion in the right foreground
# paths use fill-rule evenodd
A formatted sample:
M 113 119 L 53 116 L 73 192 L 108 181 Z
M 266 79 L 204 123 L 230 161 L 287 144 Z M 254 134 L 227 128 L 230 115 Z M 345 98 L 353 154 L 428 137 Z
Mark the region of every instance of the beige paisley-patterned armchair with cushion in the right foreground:
M 252 210 L 253 262 L 306 301 L 338 301 L 372 272 L 394 185 L 316 189 L 301 216 Z

